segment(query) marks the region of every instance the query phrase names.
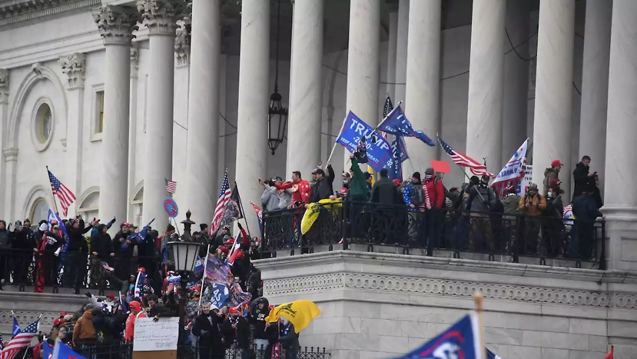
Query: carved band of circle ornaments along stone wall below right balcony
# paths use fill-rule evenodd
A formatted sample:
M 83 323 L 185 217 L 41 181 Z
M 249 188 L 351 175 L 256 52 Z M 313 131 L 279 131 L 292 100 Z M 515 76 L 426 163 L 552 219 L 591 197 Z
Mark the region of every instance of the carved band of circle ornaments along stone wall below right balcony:
M 538 304 L 563 304 L 580 307 L 613 307 L 637 309 L 637 295 L 627 293 L 574 291 L 492 283 L 447 281 L 365 274 L 326 274 L 264 281 L 264 295 L 294 295 L 331 289 L 363 289 L 408 295 L 440 295 L 472 298 L 482 291 L 487 299 L 510 300 Z

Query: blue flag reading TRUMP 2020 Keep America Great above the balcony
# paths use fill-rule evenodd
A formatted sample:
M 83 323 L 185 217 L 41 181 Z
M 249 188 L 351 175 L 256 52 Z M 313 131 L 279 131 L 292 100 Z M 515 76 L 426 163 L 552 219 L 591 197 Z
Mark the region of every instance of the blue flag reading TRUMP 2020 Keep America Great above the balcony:
M 345 148 L 354 153 L 362 138 L 371 136 L 374 129 L 359 119 L 354 112 L 347 114 L 341 133 L 336 138 L 336 143 L 340 143 Z M 375 171 L 380 171 L 391 158 L 389 142 L 382 136 L 373 136 L 366 140 L 368 165 Z

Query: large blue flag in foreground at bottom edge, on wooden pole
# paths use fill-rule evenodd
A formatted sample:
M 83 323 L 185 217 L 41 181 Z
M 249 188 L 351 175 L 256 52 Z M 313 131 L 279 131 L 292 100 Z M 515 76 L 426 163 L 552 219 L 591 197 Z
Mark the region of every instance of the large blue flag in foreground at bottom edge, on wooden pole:
M 484 353 L 485 348 L 480 345 L 478 316 L 472 312 L 431 341 L 396 359 L 482 359 Z

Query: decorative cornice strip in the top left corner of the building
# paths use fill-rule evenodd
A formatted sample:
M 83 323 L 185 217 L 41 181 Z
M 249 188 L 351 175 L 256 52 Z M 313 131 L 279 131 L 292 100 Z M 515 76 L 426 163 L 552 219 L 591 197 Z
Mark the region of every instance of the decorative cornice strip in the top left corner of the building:
M 0 26 L 101 4 L 101 0 L 26 0 L 0 6 Z

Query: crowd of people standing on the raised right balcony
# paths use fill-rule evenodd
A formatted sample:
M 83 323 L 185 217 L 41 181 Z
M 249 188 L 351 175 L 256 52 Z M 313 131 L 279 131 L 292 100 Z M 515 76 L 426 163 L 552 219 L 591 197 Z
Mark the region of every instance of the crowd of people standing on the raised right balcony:
M 374 181 L 371 173 L 362 172 L 355 154 L 350 158 L 352 165 L 341 175 L 342 186 L 338 191 L 333 191 L 336 176 L 329 161 L 327 173 L 318 166 L 311 172 L 310 182 L 301 179 L 299 172 L 294 172 L 289 182 L 278 176 L 265 182 L 259 180 L 264 186 L 262 208 L 266 212 L 303 212 L 309 203 L 340 198 L 350 201 L 343 216 L 351 224 L 346 234 L 350 238 L 357 237 L 360 231 L 355 227 L 360 226 L 369 208 L 362 203 L 371 203 L 377 209 L 385 209 L 381 212 L 391 217 L 392 223 L 402 224 L 396 236 L 404 235 L 420 247 L 426 247 L 429 255 L 442 246 L 478 251 L 515 249 L 519 254 L 531 256 L 541 251 L 550 257 L 592 259 L 596 238 L 594 223 L 597 217 L 603 217 L 599 212 L 603 203 L 598 175 L 589 173 L 589 156 L 584 156 L 575 166 L 573 200 L 568 206 L 562 200 L 560 170 L 563 164 L 559 160 L 552 161 L 545 171 L 543 187 L 532 183 L 519 195 L 517 186 L 496 193 L 488 175 L 473 176 L 459 187 L 448 188 L 433 168 L 427 168 L 424 175 L 415 172 L 403 182 L 390 180 L 387 170 L 382 169 Z M 405 214 L 397 216 L 396 209 L 401 208 Z M 326 204 L 323 212 L 329 209 L 330 205 Z M 383 221 L 377 213 L 373 216 L 375 218 L 368 219 L 367 224 Z M 502 221 L 507 222 L 507 228 L 519 230 L 520 243 L 495 240 L 504 237 Z M 266 223 L 266 232 L 267 227 Z M 445 236 L 452 240 L 441 243 L 441 237 Z

